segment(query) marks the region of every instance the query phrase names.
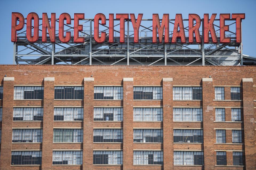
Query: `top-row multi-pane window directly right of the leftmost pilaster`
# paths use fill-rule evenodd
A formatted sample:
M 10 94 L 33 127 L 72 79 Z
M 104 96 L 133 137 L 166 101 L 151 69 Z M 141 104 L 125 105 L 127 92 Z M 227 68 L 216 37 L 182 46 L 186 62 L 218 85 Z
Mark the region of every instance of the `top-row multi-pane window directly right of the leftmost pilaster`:
M 15 99 L 43 99 L 42 86 L 14 86 Z

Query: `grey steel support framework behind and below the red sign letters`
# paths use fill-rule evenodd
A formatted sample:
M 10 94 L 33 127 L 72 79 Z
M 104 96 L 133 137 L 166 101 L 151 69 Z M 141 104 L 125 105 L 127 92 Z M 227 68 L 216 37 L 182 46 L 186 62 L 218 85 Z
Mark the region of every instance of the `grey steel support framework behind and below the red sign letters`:
M 50 19 L 49 19 L 50 20 Z M 39 19 L 39 23 L 42 19 Z M 72 21 L 74 21 L 72 19 Z M 107 19 L 108 21 L 108 19 Z M 152 43 L 152 19 L 142 19 L 139 29 L 139 43 L 134 43 L 134 32 L 131 20 L 125 21 L 125 43 L 120 43 L 120 23 L 114 21 L 114 43 L 108 42 L 108 23 L 100 24 L 99 34 L 106 32 L 106 41 L 98 44 L 94 40 L 94 19 L 80 20 L 83 31 L 80 37 L 85 38 L 84 43 L 74 43 L 74 27 L 64 24 L 64 35 L 71 32 L 71 40 L 62 43 L 56 30 L 56 42 L 51 43 L 47 34 L 47 42 L 42 42 L 42 24 L 39 25 L 39 40 L 30 43 L 26 38 L 25 28 L 17 32 L 17 42 L 14 43 L 14 64 L 85 64 L 85 65 L 252 65 L 256 64 L 256 58 L 242 53 L 242 43 L 236 43 L 235 21 L 229 20 L 229 31 L 226 37 L 231 38 L 227 44 L 219 43 L 219 19 L 214 21 L 218 43 L 188 43 L 188 19 L 183 19 L 185 26 L 186 42 L 182 44 L 178 38 L 177 43 Z M 26 23 L 26 19 L 25 19 Z M 58 23 L 58 19 L 56 21 Z M 100 22 L 101 23 L 101 22 Z M 160 19 L 161 23 L 161 19 Z M 174 19 L 169 20 L 169 29 L 174 25 Z M 203 19 L 201 20 L 202 30 Z M 58 25 L 56 25 L 57 27 Z M 233 30 L 231 30 L 233 28 Z M 131 31 L 132 30 L 132 31 Z M 173 31 L 169 32 L 171 42 Z M 209 34 L 210 35 L 210 34 Z M 203 32 L 200 31 L 203 38 Z M 164 38 L 163 38 L 164 39 Z M 195 38 L 194 38 L 195 39 Z M 195 42 L 195 40 L 194 40 Z

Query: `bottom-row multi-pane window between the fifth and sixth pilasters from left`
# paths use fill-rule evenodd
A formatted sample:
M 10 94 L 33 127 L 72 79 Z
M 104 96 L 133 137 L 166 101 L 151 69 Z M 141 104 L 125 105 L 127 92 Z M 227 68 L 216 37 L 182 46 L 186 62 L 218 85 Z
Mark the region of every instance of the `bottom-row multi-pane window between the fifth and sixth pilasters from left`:
M 203 152 L 174 151 L 174 165 L 203 165 Z

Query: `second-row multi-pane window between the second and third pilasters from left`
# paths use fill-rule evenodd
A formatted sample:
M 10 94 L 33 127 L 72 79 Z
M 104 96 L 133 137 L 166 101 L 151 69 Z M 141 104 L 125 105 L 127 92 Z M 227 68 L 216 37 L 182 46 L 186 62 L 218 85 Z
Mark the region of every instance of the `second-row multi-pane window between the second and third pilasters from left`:
M 55 121 L 83 120 L 83 108 L 81 107 L 54 107 Z

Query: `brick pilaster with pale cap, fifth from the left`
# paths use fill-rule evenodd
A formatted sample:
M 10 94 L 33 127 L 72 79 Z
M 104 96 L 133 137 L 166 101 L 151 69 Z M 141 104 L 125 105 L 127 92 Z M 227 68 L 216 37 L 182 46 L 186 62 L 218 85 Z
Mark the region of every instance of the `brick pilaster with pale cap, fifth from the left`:
M 163 78 L 163 169 L 173 166 L 173 78 Z

